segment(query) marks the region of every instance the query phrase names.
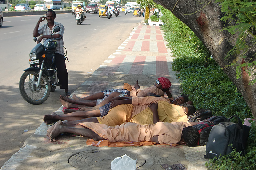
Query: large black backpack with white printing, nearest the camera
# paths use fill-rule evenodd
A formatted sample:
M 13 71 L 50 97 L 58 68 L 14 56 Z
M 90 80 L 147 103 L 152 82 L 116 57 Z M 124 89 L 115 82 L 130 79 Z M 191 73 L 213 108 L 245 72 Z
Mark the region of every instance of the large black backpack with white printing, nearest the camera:
M 228 155 L 233 151 L 241 151 L 245 154 L 245 148 L 249 136 L 250 127 L 242 125 L 240 118 L 237 115 L 231 116 L 228 120 L 236 117 L 238 124 L 233 122 L 222 122 L 212 127 L 208 142 L 206 144 L 206 155 L 204 158 L 213 159 L 215 156 Z M 232 144 L 232 147 L 229 146 Z

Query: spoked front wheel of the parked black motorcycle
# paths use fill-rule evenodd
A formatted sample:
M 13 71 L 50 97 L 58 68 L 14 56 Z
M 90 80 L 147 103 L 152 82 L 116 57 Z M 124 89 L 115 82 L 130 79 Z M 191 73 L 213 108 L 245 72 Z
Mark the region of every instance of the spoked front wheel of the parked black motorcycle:
M 41 77 L 40 88 L 36 89 L 38 72 L 26 71 L 22 74 L 19 83 L 20 94 L 24 100 L 32 105 L 39 105 L 45 102 L 50 95 L 51 85 L 48 78 Z

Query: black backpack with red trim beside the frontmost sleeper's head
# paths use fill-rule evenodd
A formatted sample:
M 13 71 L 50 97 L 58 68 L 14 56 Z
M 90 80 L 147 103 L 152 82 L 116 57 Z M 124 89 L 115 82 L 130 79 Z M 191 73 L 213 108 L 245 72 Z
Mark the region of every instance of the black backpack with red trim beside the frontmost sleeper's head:
M 220 122 L 228 121 L 228 119 L 223 116 L 212 116 L 212 117 L 208 118 L 207 120 L 210 120 L 213 123 L 200 122 L 199 124 L 193 126 L 196 129 L 198 129 L 198 132 L 200 134 L 199 141 L 197 143 L 200 146 L 204 146 L 207 144 L 210 131 L 214 125 L 219 124 Z

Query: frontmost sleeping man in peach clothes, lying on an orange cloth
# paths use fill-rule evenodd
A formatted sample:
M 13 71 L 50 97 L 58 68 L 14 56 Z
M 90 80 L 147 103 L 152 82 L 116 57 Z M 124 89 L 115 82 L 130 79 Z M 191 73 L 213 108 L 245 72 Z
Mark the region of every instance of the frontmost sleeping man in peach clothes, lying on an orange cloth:
M 153 123 L 141 125 L 134 122 L 125 122 L 120 126 L 110 127 L 104 124 L 81 122 L 77 125 L 64 124 L 58 121 L 47 130 L 50 141 L 61 133 L 74 133 L 76 135 L 92 138 L 93 140 L 121 141 L 151 141 L 157 144 L 177 144 L 195 146 L 199 140 L 199 132 L 193 125 L 199 122 L 161 122 L 158 116 L 158 104 L 148 105 L 153 112 Z

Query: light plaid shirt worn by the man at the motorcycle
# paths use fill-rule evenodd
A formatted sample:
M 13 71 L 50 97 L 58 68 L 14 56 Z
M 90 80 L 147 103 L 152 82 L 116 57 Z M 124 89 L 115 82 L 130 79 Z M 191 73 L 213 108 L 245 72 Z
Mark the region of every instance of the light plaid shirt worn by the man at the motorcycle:
M 53 28 L 55 28 L 55 26 L 60 27 L 60 31 L 57 32 L 57 33 L 53 33 Z M 54 22 L 52 30 L 50 30 L 50 28 L 48 27 L 48 23 L 46 23 L 43 26 L 40 26 L 38 28 L 38 33 L 39 33 L 39 35 L 51 35 L 52 33 L 53 34 L 60 34 L 62 39 L 57 41 L 57 48 L 56 48 L 55 53 L 59 53 L 59 54 L 64 55 L 64 49 L 63 49 L 63 46 L 64 46 L 64 42 L 63 42 L 64 30 L 65 30 L 64 26 L 61 23 Z M 44 38 L 44 40 L 46 40 L 46 38 Z

